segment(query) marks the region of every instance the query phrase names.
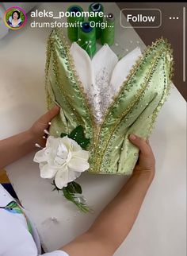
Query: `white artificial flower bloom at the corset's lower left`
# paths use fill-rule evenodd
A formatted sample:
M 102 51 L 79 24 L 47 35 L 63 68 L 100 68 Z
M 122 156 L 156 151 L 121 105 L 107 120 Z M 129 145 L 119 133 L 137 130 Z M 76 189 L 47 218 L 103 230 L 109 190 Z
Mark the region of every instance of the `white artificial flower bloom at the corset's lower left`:
M 40 176 L 55 177 L 55 185 L 61 189 L 90 168 L 89 157 L 90 153 L 73 139 L 49 136 L 46 147 L 35 154 L 34 161 L 39 163 Z

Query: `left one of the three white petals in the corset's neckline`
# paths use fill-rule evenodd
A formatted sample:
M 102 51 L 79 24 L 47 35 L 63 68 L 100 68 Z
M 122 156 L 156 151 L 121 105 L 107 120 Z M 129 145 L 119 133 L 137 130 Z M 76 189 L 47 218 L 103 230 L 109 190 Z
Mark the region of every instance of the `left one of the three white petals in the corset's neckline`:
M 93 72 L 90 56 L 77 43 L 73 43 L 70 48 L 74 66 L 86 93 L 89 93 L 93 84 Z

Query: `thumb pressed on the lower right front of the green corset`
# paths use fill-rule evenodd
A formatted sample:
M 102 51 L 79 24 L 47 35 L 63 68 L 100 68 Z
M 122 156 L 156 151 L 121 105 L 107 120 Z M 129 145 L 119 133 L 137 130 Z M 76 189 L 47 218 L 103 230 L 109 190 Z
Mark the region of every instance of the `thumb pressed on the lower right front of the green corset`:
M 132 142 L 133 145 L 136 145 L 141 153 L 143 153 L 145 156 L 150 155 L 151 147 L 143 138 L 140 138 L 135 134 L 130 134 L 129 140 Z

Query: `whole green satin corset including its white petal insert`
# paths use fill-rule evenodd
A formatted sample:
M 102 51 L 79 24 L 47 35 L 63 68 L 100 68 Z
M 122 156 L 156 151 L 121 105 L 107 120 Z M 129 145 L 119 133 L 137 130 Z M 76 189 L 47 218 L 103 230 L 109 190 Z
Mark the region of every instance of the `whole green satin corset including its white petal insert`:
M 128 135 L 148 138 L 168 95 L 173 69 L 170 45 L 161 38 L 138 59 L 137 53 L 136 49 L 118 61 L 104 45 L 90 60 L 76 43 L 67 45 L 60 29 L 48 39 L 48 108 L 60 107 L 50 134 L 59 137 L 82 126 L 90 139 L 89 173 L 131 174 L 139 149 Z

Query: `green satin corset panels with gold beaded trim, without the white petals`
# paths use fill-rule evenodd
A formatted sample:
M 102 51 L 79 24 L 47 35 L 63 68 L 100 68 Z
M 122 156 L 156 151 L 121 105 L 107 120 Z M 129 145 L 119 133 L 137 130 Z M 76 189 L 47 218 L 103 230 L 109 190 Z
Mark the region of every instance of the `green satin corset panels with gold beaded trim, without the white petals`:
M 69 46 L 62 32 L 54 29 L 48 40 L 46 92 L 48 108 L 60 106 L 52 120 L 50 134 L 70 134 L 82 125 L 90 138 L 89 173 L 131 174 L 139 149 L 129 134 L 148 138 L 155 118 L 170 90 L 172 51 L 163 39 L 156 41 L 139 57 L 121 84 L 120 90 L 98 125 L 82 82 L 74 68 Z

